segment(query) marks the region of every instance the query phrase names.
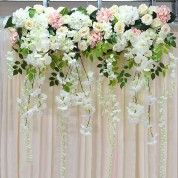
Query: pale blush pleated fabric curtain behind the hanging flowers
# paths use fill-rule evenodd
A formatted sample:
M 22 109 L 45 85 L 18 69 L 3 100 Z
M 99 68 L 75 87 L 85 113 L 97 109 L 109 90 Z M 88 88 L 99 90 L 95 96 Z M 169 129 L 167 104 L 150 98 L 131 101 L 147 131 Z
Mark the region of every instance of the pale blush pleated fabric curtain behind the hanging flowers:
M 177 26 L 173 30 L 177 31 Z M 178 37 L 178 33 L 176 33 Z M 178 43 L 178 41 L 177 41 Z M 20 132 L 20 120 L 17 111 L 17 97 L 22 86 L 21 77 L 8 79 L 6 53 L 9 49 L 8 33 L 0 28 L 0 168 L 1 178 L 60 178 L 60 146 L 59 117 L 55 96 L 57 87 L 49 87 L 46 82 L 43 90 L 48 95 L 47 108 L 43 116 L 36 115 L 32 121 L 32 162 L 26 161 L 24 135 Z M 178 56 L 178 50 L 175 50 Z M 88 66 L 91 69 L 91 65 Z M 93 69 L 98 73 L 96 69 Z M 177 75 L 176 75 L 177 76 Z M 96 112 L 93 117 L 92 136 L 80 134 L 81 116 L 78 108 L 69 112 L 67 122 L 67 170 L 66 178 L 106 178 L 108 171 L 110 146 L 107 142 L 106 122 L 97 98 L 97 75 L 93 84 L 93 100 Z M 169 86 L 169 77 L 167 77 Z M 168 99 L 165 118 L 167 119 L 167 178 L 177 178 L 178 148 L 178 77 L 176 92 Z M 153 82 L 152 91 L 161 95 L 162 79 Z M 107 86 L 102 92 L 107 91 Z M 127 121 L 125 111 L 128 94 L 127 89 L 117 89 L 120 102 L 121 121 L 117 129 L 117 143 L 113 159 L 112 178 L 159 178 L 158 144 L 147 144 L 148 132 L 142 125 L 132 125 Z M 155 132 L 159 132 L 159 105 L 152 107 L 152 123 Z M 160 135 L 158 136 L 160 137 Z

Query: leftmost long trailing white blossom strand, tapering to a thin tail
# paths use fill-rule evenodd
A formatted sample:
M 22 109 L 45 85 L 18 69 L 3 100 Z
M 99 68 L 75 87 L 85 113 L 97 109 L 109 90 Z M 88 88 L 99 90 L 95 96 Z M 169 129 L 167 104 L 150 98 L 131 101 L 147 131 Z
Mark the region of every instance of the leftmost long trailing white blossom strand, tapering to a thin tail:
M 31 161 L 31 119 L 35 112 L 41 115 L 41 111 L 46 108 L 45 100 L 47 96 L 41 92 L 44 83 L 44 69 L 35 70 L 33 79 L 25 76 L 24 87 L 21 91 L 21 97 L 18 98 L 21 128 L 25 134 L 25 143 L 27 147 L 27 160 Z

